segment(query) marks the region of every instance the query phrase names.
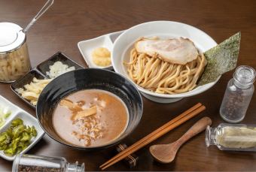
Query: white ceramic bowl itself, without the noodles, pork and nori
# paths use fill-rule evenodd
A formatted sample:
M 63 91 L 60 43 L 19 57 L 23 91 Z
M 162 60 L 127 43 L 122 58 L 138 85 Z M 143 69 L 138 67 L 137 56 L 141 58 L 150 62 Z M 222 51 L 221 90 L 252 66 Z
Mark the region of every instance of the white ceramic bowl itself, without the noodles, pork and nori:
M 184 23 L 171 21 L 154 21 L 142 23 L 124 31 L 117 38 L 117 40 L 114 41 L 114 46 L 111 53 L 111 62 L 114 71 L 130 79 L 126 72 L 126 67 L 123 65 L 123 62 L 129 62 L 130 50 L 138 38 L 153 36 L 157 36 L 159 38 L 190 38 L 191 41 L 194 41 L 194 44 L 201 52 L 205 52 L 206 50 L 209 50 L 210 48 L 217 45 L 217 43 L 205 32 Z M 148 91 L 147 89 L 143 89 L 138 85 L 136 86 L 142 95 L 151 101 L 160 103 L 172 103 L 181 100 L 181 98 L 198 95 L 201 92 L 205 92 L 207 89 L 210 89 L 212 86 L 214 86 L 219 78 L 220 77 L 218 77 L 215 82 L 208 83 L 203 86 L 198 86 L 190 92 L 184 92 L 176 95 L 159 94 Z

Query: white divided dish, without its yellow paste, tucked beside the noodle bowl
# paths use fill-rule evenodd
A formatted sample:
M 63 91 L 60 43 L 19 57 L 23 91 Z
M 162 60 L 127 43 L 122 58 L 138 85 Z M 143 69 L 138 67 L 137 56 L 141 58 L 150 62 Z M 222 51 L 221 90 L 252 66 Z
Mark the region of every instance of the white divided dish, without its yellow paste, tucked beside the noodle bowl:
M 92 51 L 98 47 L 105 47 L 112 53 L 114 41 L 121 33 L 123 33 L 123 31 L 113 32 L 97 38 L 78 42 L 78 49 L 80 50 L 81 55 L 84 57 L 85 62 L 87 62 L 89 68 L 104 68 L 108 70 L 113 69 L 112 65 L 102 67 L 94 64 L 91 54 Z

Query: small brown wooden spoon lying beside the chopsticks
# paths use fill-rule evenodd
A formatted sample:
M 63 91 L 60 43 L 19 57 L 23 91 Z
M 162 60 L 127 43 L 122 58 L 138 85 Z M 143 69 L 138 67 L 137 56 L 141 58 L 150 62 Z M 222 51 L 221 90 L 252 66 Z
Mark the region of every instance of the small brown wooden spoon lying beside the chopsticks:
M 161 163 L 172 162 L 181 145 L 201 131 L 204 131 L 208 125 L 212 125 L 212 120 L 209 117 L 203 117 L 175 142 L 151 146 L 149 149 L 151 155 Z

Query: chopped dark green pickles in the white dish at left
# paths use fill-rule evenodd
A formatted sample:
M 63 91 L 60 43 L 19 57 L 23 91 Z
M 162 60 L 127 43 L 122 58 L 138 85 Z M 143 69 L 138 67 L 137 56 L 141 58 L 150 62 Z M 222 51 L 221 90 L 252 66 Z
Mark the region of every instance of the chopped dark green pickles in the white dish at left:
M 37 136 L 34 126 L 26 126 L 22 119 L 14 119 L 10 128 L 0 134 L 0 150 L 5 155 L 16 155 L 22 152 L 31 143 L 32 137 Z

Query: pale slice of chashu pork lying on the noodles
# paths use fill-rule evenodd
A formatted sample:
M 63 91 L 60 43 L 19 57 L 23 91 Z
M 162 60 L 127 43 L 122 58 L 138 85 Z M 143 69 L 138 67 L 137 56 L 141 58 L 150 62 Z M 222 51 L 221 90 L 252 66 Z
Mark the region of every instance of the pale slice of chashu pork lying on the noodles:
M 149 56 L 157 55 L 163 61 L 185 65 L 199 56 L 197 47 L 188 38 L 147 39 L 141 38 L 135 44 L 136 51 Z

